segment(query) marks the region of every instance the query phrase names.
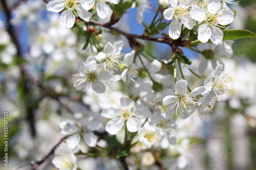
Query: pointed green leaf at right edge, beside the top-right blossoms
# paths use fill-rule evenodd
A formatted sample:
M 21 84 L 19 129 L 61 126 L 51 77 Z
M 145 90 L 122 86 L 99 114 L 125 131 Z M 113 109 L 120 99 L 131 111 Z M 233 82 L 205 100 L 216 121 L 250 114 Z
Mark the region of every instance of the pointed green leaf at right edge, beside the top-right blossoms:
M 223 30 L 223 40 L 256 38 L 256 34 L 248 30 Z

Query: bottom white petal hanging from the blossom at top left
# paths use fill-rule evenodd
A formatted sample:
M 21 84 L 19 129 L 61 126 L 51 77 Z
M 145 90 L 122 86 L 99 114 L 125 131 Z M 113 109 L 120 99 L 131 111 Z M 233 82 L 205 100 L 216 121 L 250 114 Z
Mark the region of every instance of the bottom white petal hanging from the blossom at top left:
M 66 10 L 61 13 L 59 23 L 62 27 L 71 28 L 74 26 L 75 23 L 75 15 L 72 11 Z

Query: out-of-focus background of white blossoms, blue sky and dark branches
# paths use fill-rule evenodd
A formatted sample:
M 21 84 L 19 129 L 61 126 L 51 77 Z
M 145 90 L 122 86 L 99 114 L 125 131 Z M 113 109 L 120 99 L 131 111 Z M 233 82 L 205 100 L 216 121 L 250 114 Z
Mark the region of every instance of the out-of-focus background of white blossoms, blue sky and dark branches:
M 148 8 L 144 9 L 144 21 L 150 23 L 158 5 L 154 0 L 145 3 Z M 78 62 L 92 51 L 81 50 L 85 38 L 78 36 L 76 28 L 59 26 L 59 14 L 46 11 L 46 5 L 39 0 L 1 0 L 0 169 L 3 170 L 31 169 L 30 162 L 41 160 L 63 137 L 58 123 L 70 117 L 70 112 L 86 112 L 88 105 L 97 112 L 99 106 L 103 108 L 106 103 L 115 102 L 113 95 L 84 94 L 73 88 L 72 74 Z M 236 11 L 231 29 L 256 33 L 254 0 L 229 7 Z M 137 8 L 129 10 L 115 27 L 142 34 L 144 27 L 136 20 L 137 11 Z M 7 18 L 11 18 L 10 22 Z M 106 40 L 123 39 L 126 45 L 123 53 L 131 52 L 120 35 L 109 32 L 99 38 L 103 44 Z M 159 59 L 170 59 L 168 45 L 141 42 Z M 166 169 L 256 169 L 256 39 L 233 41 L 232 48 L 233 56 L 224 58 L 223 62 L 225 72 L 233 79 L 229 83 L 233 90 L 207 116 L 193 114 L 188 119 L 177 120 L 177 144 L 168 145 L 163 141 L 159 146 Z M 191 67 L 198 71 L 199 55 L 186 48 L 182 50 L 193 61 Z M 190 76 L 188 72 L 186 75 Z M 203 76 L 206 75 L 207 71 Z M 194 82 L 194 86 L 200 84 L 196 78 L 189 81 Z M 113 94 L 118 85 L 109 88 Z M 3 161 L 5 112 L 9 113 L 8 166 Z M 86 169 L 119 169 L 116 164 L 115 160 L 88 158 Z M 137 169 L 143 168 L 155 169 Z

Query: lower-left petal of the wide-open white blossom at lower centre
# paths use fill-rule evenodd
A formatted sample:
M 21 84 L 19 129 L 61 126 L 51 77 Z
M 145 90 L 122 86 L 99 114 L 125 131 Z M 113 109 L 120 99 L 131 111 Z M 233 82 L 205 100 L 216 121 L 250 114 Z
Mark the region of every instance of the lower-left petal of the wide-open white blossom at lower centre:
M 120 117 L 111 119 L 108 123 L 106 123 L 106 131 L 112 135 L 117 134 L 123 127 L 123 120 Z

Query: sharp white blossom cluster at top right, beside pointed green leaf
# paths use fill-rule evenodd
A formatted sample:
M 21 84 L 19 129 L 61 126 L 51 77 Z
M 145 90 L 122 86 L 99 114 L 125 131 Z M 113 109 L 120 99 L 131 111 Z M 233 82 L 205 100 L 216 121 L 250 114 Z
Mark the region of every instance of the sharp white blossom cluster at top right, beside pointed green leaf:
M 174 18 L 169 26 L 169 36 L 173 39 L 180 37 L 182 25 L 189 30 L 193 29 L 195 20 L 199 26 L 198 40 L 205 43 L 210 39 L 219 44 L 223 39 L 221 28 L 234 20 L 234 13 L 220 0 L 170 0 L 169 3 L 172 7 L 164 10 L 163 16 L 167 20 Z

